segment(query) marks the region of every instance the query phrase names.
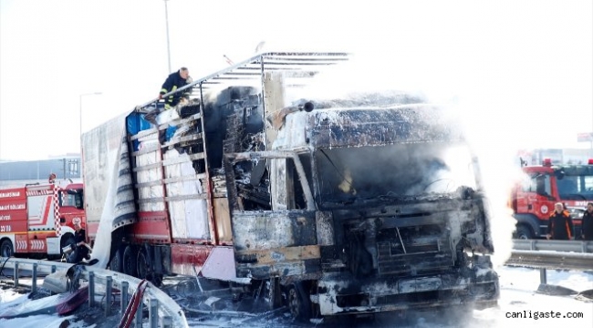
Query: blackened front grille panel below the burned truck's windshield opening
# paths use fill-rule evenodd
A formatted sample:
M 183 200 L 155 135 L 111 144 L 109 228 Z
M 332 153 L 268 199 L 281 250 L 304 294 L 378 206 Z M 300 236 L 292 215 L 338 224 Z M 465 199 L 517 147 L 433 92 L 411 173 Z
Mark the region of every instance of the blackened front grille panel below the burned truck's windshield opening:
M 453 270 L 458 251 L 484 249 L 481 240 L 468 238 L 481 232 L 480 201 L 416 197 L 398 205 L 334 210 L 336 242 L 344 251 L 323 249 L 324 271 L 347 268 L 360 279 Z

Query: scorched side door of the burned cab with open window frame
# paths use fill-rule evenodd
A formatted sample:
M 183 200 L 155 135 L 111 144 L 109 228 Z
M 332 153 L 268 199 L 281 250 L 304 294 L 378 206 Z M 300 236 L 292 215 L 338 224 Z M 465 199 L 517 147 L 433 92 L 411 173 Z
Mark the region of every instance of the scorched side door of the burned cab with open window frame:
M 251 154 L 245 156 L 253 158 Z M 227 159 L 232 158 L 225 158 L 229 201 L 234 209 L 231 223 L 237 277 L 268 279 L 319 272 L 316 210 L 301 161 L 290 152 L 265 151 L 258 156 L 270 163 L 271 206 L 265 210 L 241 209 L 236 182 L 229 180 L 234 177 L 228 174 L 232 164 Z

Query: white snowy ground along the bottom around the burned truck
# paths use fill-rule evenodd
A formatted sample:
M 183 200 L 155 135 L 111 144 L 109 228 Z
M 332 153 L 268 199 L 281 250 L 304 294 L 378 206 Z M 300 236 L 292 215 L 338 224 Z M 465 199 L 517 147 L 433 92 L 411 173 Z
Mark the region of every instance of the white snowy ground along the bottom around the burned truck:
M 515 267 L 501 267 L 496 270 L 500 276 L 501 296 L 498 306 L 485 310 L 473 310 L 470 316 L 464 318 L 463 323 L 459 322 L 459 317 L 444 318 L 440 313 L 417 313 L 406 322 L 395 315 L 381 315 L 375 321 L 370 323 L 359 323 L 359 327 L 548 327 L 552 325 L 566 325 L 570 327 L 593 327 L 593 300 L 584 302 L 575 299 L 572 296 L 549 296 L 537 293 L 540 276 L 538 270 Z M 577 271 L 547 271 L 548 284 L 559 285 L 577 292 L 593 289 L 593 272 Z M 0 291 L 0 310 L 3 305 L 8 303 L 25 302 L 26 297 L 12 290 Z M 559 313 L 558 318 L 549 318 L 550 312 Z M 526 318 L 513 318 L 519 313 Z M 543 314 L 542 314 L 543 313 Z M 568 313 L 583 313 L 582 318 L 568 318 Z M 286 313 L 280 314 L 281 316 Z M 445 313 L 446 316 L 446 313 Z M 57 315 L 36 315 L 27 318 L 5 320 L 0 319 L 0 328 L 18 327 L 18 328 L 39 328 L 39 327 L 59 327 L 65 319 L 68 319 L 70 325 L 74 328 L 92 328 L 95 324 L 86 324 L 78 320 L 76 316 L 58 317 Z M 297 324 L 290 321 L 281 320 L 282 318 L 267 318 L 250 322 L 250 327 L 328 327 L 333 324 Z M 224 320 L 220 318 L 200 320 L 188 318 L 191 327 L 217 326 L 234 327 L 239 321 Z M 351 322 L 350 322 L 351 323 Z M 244 324 L 242 324 L 244 325 Z M 343 323 L 339 323 L 342 325 Z M 97 326 L 100 326 L 98 323 Z M 352 326 L 352 324 L 349 324 Z

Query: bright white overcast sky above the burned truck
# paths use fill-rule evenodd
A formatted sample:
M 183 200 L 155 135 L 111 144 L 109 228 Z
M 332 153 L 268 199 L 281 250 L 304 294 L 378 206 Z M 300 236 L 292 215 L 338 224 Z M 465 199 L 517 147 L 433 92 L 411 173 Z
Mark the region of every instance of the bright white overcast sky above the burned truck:
M 169 73 L 162 0 L 0 0 L 0 159 L 78 152 L 82 131 L 156 97 Z M 457 99 L 484 145 L 588 147 L 593 5 L 571 1 L 170 0 L 172 69 L 265 51 L 355 54 L 328 89 Z M 346 82 L 346 83 L 345 83 Z M 101 92 L 101 95 L 80 95 Z

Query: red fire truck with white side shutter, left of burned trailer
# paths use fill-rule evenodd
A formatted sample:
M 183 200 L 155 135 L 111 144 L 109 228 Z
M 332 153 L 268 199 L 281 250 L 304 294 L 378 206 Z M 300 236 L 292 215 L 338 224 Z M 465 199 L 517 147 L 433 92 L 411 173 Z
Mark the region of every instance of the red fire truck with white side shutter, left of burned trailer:
M 84 228 L 82 183 L 50 182 L 0 189 L 0 255 L 59 259 Z

